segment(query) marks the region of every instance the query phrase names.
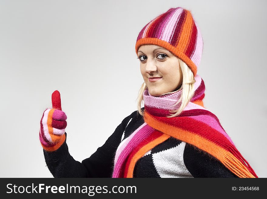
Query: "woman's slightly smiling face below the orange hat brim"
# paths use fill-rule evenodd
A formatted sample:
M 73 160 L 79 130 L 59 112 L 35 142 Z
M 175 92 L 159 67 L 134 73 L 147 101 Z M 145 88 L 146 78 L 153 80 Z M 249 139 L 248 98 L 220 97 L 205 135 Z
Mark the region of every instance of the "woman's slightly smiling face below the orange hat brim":
M 179 59 L 157 45 L 142 45 L 138 49 L 140 71 L 150 95 L 155 97 L 177 90 L 183 81 Z M 153 79 L 158 77 L 158 79 Z

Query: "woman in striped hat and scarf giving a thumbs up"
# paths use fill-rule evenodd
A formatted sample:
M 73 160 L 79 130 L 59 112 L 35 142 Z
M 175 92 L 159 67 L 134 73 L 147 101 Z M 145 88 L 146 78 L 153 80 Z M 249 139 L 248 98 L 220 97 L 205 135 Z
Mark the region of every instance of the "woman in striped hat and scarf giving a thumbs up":
M 52 175 L 257 178 L 218 118 L 203 105 L 205 85 L 197 75 L 202 49 L 198 25 L 184 8 L 170 8 L 146 24 L 135 46 L 144 79 L 138 110 L 82 162 L 69 154 L 67 117 L 55 91 L 53 108 L 44 111 L 39 132 Z

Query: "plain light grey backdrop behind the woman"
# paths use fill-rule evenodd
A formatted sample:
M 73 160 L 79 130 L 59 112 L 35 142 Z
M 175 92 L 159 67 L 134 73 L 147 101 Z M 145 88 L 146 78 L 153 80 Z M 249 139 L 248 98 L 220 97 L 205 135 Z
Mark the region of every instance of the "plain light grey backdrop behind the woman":
M 138 33 L 171 7 L 204 40 L 204 106 L 259 177 L 267 177 L 266 1 L 0 1 L 0 177 L 52 177 L 42 113 L 61 93 L 70 154 L 90 157 L 137 110 Z

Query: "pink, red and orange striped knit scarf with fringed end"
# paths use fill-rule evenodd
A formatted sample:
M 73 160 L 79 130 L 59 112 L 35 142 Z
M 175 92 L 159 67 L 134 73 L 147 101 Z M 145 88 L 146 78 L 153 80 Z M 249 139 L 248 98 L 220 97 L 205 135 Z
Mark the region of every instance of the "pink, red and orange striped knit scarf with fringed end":
M 169 110 L 177 110 L 181 106 L 181 102 L 172 105 L 177 102 L 182 90 L 160 97 L 151 96 L 147 89 L 144 91 L 144 124 L 118 146 L 113 178 L 133 178 L 137 160 L 171 136 L 208 152 L 239 178 L 258 178 L 218 118 L 204 108 L 204 81 L 199 75 L 195 80 L 194 96 L 176 117 L 165 116 L 169 115 Z

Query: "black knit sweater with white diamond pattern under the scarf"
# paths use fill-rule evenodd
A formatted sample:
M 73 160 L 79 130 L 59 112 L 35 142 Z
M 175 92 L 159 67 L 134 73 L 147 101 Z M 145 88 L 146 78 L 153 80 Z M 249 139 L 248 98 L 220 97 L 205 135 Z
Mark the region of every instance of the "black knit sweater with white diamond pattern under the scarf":
M 55 178 L 110 178 L 119 144 L 143 123 L 143 116 L 134 111 L 123 119 L 103 146 L 82 162 L 69 154 L 66 140 L 56 151 L 43 149 L 47 167 Z M 171 170 L 166 165 L 172 165 Z M 134 177 L 238 178 L 208 153 L 173 137 L 155 146 L 136 162 Z

